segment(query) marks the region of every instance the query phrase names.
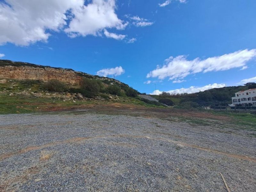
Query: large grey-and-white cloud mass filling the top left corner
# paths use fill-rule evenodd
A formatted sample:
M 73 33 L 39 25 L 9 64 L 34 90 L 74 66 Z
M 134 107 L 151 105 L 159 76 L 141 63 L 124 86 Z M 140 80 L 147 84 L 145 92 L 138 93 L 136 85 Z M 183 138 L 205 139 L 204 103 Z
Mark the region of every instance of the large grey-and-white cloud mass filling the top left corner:
M 5 0 L 0 2 L 0 45 L 27 46 L 47 42 L 52 32 L 68 36 L 100 36 L 103 29 L 124 29 L 115 0 Z

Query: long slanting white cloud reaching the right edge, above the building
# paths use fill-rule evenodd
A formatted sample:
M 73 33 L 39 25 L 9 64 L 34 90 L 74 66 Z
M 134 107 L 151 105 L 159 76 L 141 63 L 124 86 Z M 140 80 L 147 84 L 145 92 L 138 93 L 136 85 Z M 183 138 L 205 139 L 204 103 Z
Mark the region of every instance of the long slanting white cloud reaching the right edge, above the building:
M 187 57 L 184 55 L 175 58 L 169 57 L 165 60 L 165 64 L 162 67 L 157 66 L 155 70 L 148 73 L 147 77 L 158 77 L 158 79 L 169 77 L 172 80 L 200 72 L 206 73 L 210 71 L 224 71 L 231 68 L 242 68 L 246 66 L 249 60 L 255 57 L 256 49 L 239 50 L 205 60 L 200 60 L 199 58 L 187 60 Z

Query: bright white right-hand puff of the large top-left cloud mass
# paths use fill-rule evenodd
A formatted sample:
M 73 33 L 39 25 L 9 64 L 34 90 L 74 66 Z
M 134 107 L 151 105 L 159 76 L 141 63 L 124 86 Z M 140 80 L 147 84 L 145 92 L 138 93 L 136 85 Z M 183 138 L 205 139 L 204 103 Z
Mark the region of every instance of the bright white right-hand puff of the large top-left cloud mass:
M 72 9 L 74 18 L 65 29 L 73 36 L 98 36 L 105 28 L 124 29 L 128 23 L 118 19 L 115 0 L 92 0 L 91 4 Z

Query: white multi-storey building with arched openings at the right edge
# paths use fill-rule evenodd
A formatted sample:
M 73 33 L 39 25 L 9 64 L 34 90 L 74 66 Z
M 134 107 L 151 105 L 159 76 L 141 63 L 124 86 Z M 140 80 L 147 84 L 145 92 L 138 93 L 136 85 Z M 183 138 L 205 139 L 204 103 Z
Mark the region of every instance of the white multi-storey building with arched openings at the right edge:
M 256 89 L 236 92 L 236 96 L 232 97 L 232 105 L 252 105 L 256 106 Z

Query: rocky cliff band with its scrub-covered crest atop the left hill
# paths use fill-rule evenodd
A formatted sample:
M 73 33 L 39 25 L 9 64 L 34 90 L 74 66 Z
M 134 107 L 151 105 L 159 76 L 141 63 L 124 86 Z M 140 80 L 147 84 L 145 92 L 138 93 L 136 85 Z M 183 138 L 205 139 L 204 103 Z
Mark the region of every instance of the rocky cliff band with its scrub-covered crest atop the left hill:
M 112 78 L 93 76 L 72 69 L 54 68 L 50 66 L 35 65 L 25 62 L 13 62 L 10 60 L 0 60 L 0 78 L 8 79 L 35 79 L 48 81 L 57 79 L 69 84 L 79 84 L 83 77 L 100 79 L 105 84 L 116 83 L 128 86 Z

